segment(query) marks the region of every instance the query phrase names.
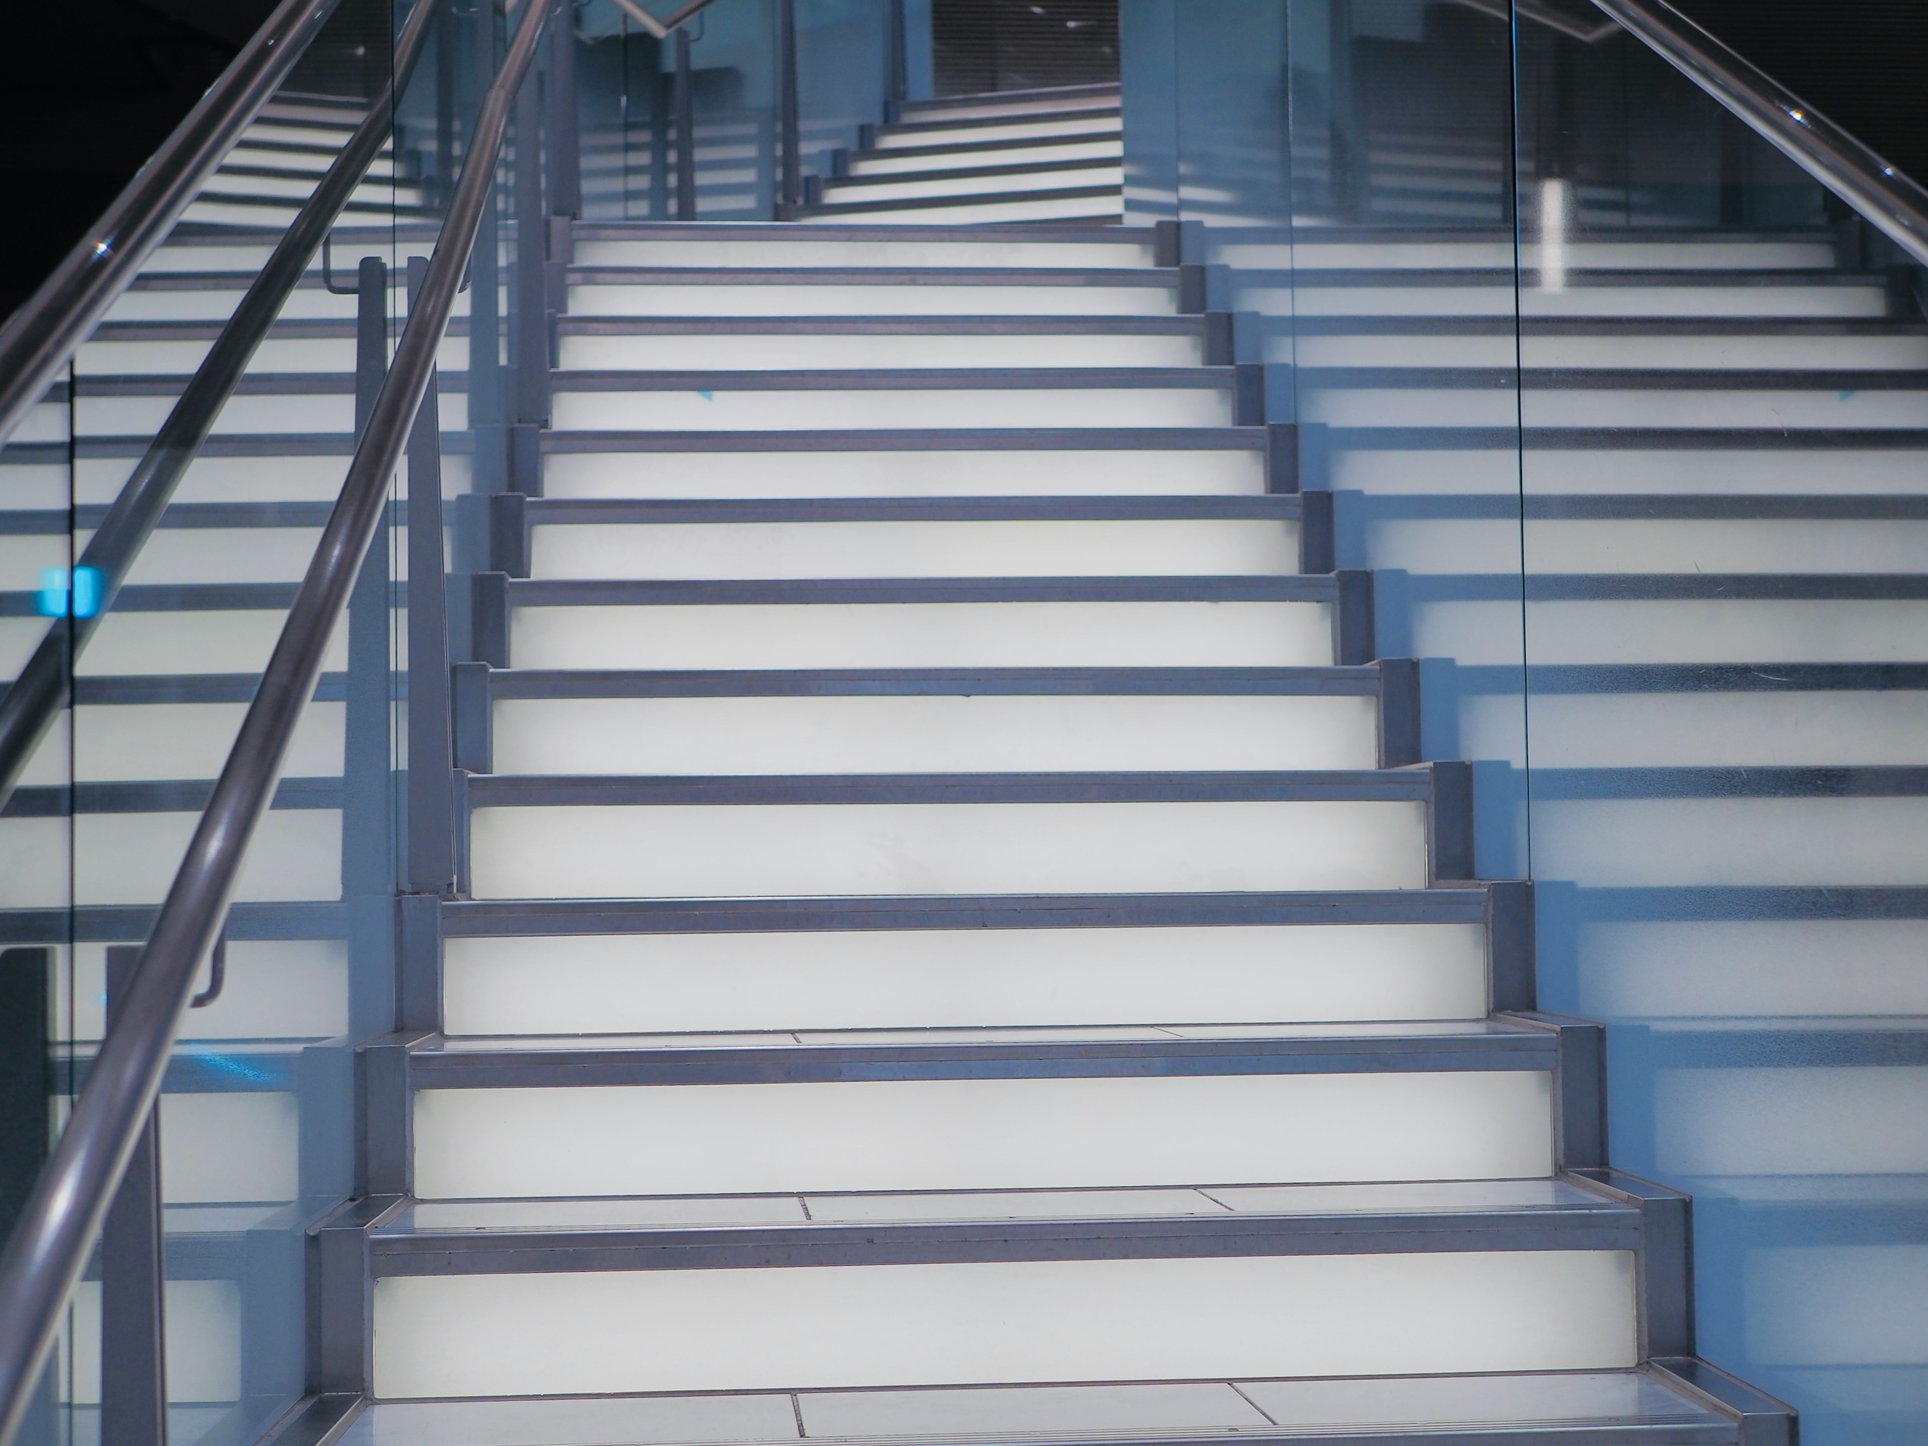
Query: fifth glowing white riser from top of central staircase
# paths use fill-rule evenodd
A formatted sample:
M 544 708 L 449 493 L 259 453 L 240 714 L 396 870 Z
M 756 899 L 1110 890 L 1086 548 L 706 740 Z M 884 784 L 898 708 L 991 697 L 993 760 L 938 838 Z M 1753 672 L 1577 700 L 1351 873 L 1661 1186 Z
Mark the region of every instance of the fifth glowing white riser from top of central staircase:
M 1517 478 L 1515 465 L 1515 490 Z M 1265 457 L 1203 449 L 559 451 L 544 457 L 542 492 L 548 497 L 1255 497 L 1265 494 Z

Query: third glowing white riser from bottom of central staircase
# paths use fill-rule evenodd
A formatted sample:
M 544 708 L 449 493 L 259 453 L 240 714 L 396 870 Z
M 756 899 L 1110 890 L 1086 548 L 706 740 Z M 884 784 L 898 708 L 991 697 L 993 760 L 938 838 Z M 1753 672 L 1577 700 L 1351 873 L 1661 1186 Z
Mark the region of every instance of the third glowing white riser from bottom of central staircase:
M 455 1035 L 1454 1020 L 1477 924 L 449 939 Z

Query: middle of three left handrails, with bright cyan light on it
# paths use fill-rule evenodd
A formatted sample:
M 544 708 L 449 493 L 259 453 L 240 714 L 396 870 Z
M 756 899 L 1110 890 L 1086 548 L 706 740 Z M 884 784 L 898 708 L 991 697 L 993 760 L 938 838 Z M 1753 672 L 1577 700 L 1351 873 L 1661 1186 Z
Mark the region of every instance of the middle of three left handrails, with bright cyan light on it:
M 376 96 L 374 106 L 341 147 L 328 174 L 295 214 L 274 254 L 268 256 L 268 264 L 260 268 L 247 295 L 241 297 L 241 305 L 222 326 L 222 334 L 208 347 L 201 366 L 195 368 L 187 388 L 168 413 L 168 420 L 154 432 L 147 453 L 135 463 L 108 515 L 89 538 L 75 569 L 89 569 L 98 580 L 94 605 L 87 617 L 54 619 L 19 677 L 0 696 L 0 808 L 13 796 L 35 748 L 60 717 L 60 710 L 67 706 L 73 661 L 114 605 L 114 594 L 120 592 L 127 569 L 147 546 L 168 499 L 174 497 L 181 476 L 201 455 L 208 432 L 214 430 L 214 418 L 233 395 L 256 347 L 281 312 L 281 305 L 307 274 L 316 249 L 328 237 L 328 228 L 335 224 L 335 216 L 341 214 L 370 162 L 389 139 L 395 91 L 409 83 L 415 62 L 422 56 L 422 40 L 434 12 L 436 0 L 416 0 L 415 12 L 395 39 L 388 87 Z

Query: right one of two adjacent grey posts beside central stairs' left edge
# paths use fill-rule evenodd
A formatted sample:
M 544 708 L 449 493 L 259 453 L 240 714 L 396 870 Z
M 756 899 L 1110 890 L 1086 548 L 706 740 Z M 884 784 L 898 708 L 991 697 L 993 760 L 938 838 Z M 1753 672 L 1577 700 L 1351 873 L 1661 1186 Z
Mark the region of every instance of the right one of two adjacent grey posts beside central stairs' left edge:
M 409 258 L 413 305 L 428 260 Z M 409 868 L 407 891 L 455 887 L 449 621 L 442 557 L 442 424 L 436 372 L 409 434 Z

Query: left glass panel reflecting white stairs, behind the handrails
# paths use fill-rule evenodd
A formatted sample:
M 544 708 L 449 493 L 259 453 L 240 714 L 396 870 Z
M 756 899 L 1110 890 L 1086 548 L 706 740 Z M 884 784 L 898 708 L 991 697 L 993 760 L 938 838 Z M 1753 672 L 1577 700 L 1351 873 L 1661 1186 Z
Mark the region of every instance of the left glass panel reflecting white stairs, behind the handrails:
M 6 675 L 19 675 L 42 636 L 66 636 L 50 657 L 56 675 L 71 659 L 73 700 L 0 821 L 4 1114 L 27 1122 L 0 1145 L 0 1230 L 139 964 L 335 501 L 405 314 L 407 258 L 434 247 L 478 94 L 476 62 L 494 67 L 499 17 L 436 21 L 388 143 L 206 442 L 187 449 L 175 476 L 154 438 L 389 85 L 391 35 L 405 17 L 405 6 L 391 15 L 386 2 L 341 6 L 0 453 Z M 511 181 L 505 172 L 503 210 Z M 501 355 L 497 318 L 515 312 L 503 297 L 517 278 L 513 239 L 511 229 L 509 245 L 490 247 L 472 287 L 492 303 L 476 339 L 490 359 Z M 459 320 L 455 335 L 465 330 Z M 461 339 L 445 349 L 453 428 L 467 424 L 465 351 Z M 480 376 L 495 384 L 494 368 Z M 497 440 L 505 409 L 497 395 L 474 409 Z M 461 430 L 449 451 L 443 476 L 467 492 L 470 457 L 492 453 Z M 131 476 L 156 480 L 166 505 L 118 578 L 98 548 L 87 549 Z M 355 1166 L 353 1049 L 395 1026 L 391 900 L 403 839 L 393 763 L 397 665 L 407 663 L 397 524 L 393 513 L 368 555 L 247 854 L 224 943 L 202 962 L 154 1143 L 129 1166 L 23 1436 L 35 1446 L 152 1436 L 141 1413 L 158 1406 L 174 1446 L 251 1440 L 310 1386 L 307 1230 L 370 1188 Z M 64 1068 L 46 1072 L 40 1060 Z M 143 1271 L 160 1274 L 162 1336 L 102 1332 L 104 1319 L 139 1319 Z M 143 1384 L 156 1371 L 164 1402 Z

